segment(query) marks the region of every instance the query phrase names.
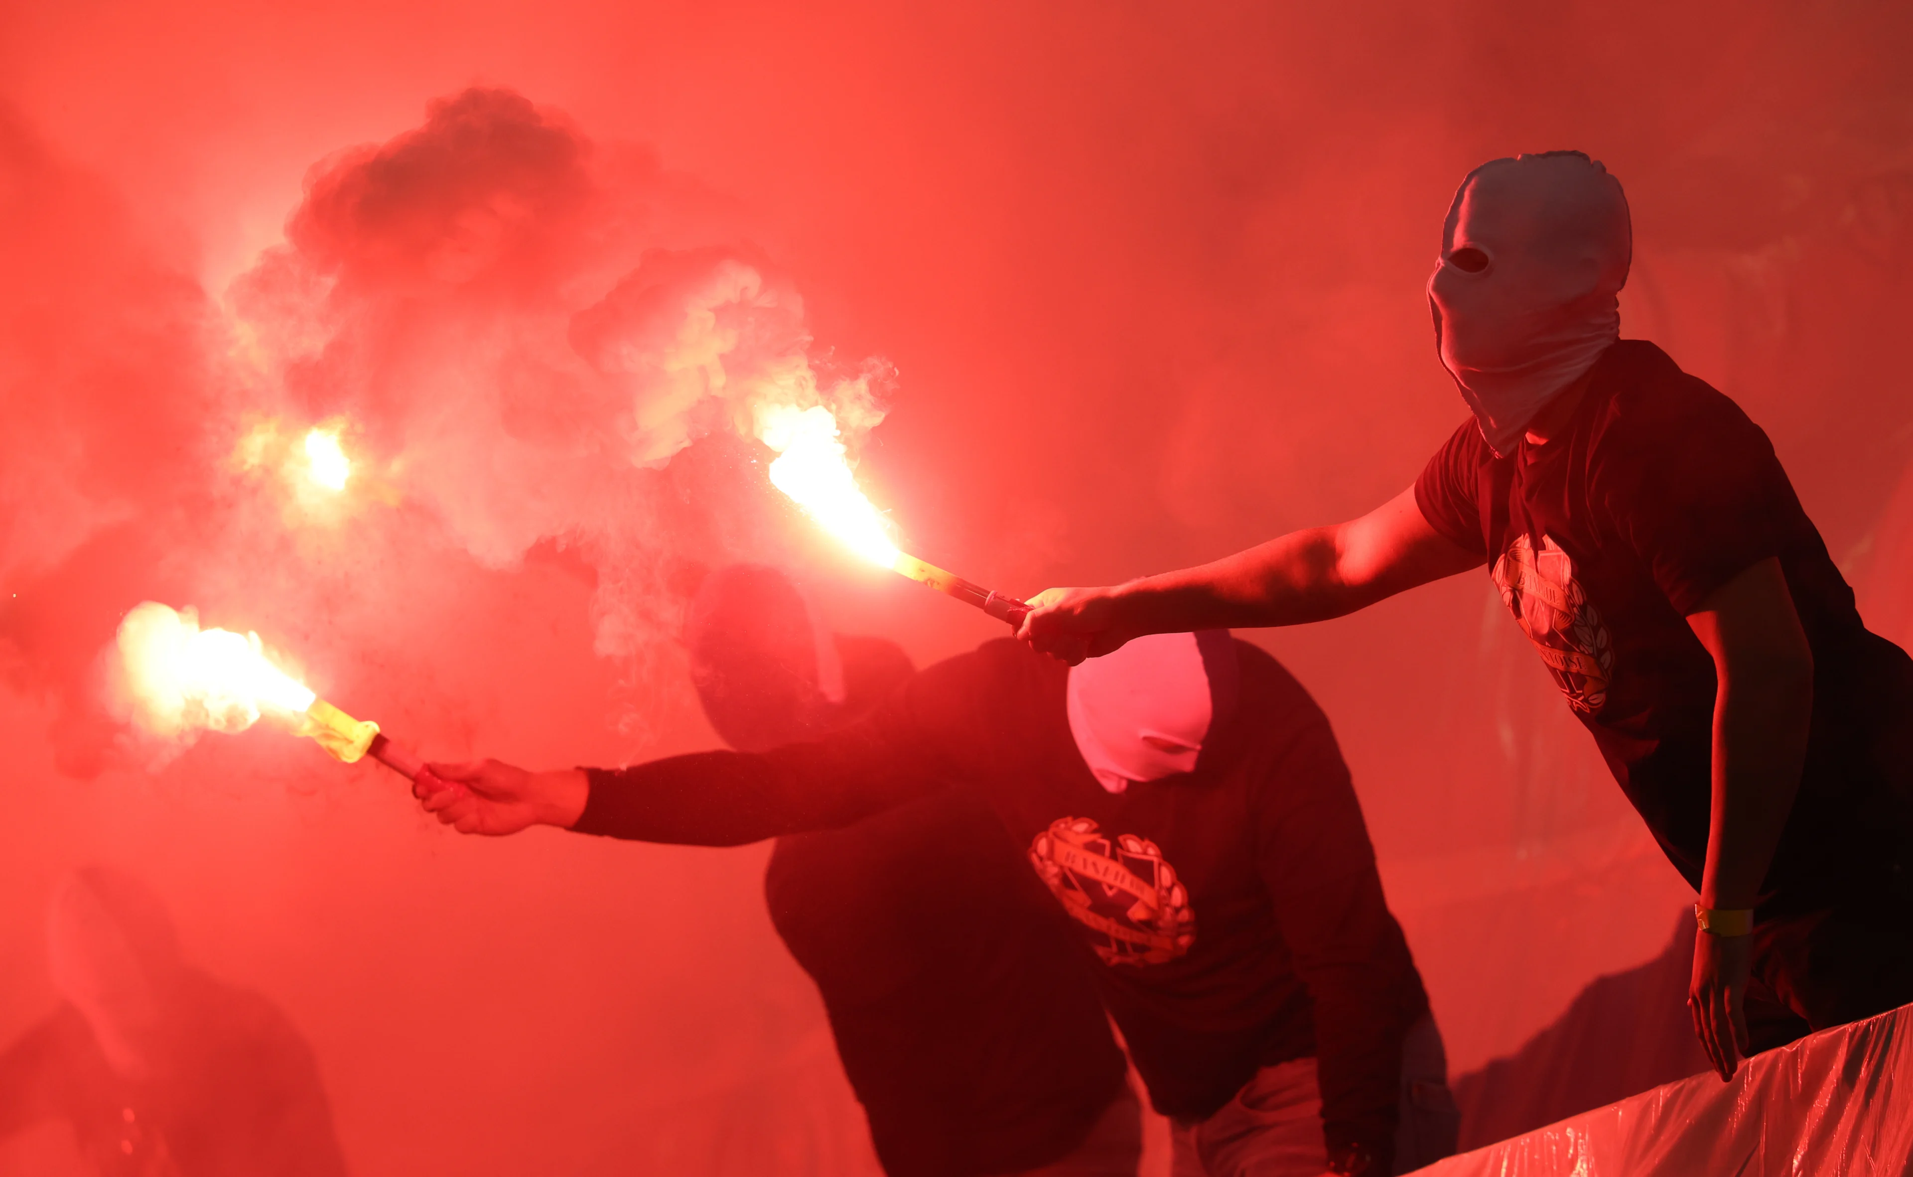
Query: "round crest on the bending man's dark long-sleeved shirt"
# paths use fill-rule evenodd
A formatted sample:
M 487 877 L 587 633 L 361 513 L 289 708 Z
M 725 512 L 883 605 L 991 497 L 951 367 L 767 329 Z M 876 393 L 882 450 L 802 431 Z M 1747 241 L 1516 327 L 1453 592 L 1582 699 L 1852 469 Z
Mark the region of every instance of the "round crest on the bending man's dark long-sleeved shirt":
M 1176 871 L 1148 838 L 1111 838 L 1088 817 L 1058 817 L 1029 844 L 1037 875 L 1104 965 L 1161 965 L 1196 944 L 1196 913 Z

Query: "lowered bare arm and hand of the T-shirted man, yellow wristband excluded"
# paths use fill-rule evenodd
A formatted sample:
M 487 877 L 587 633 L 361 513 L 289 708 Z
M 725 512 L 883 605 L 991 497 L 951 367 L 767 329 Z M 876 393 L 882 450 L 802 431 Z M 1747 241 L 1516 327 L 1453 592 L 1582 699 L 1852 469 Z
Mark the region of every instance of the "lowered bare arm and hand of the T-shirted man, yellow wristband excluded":
M 1754 907 L 1773 861 L 1814 718 L 1814 651 L 1777 559 L 1714 589 L 1687 616 L 1714 656 L 1712 815 L 1701 907 Z M 1750 936 L 1703 934 L 1695 942 L 1689 1009 L 1701 1045 L 1722 1079 L 1747 1053 L 1743 997 Z

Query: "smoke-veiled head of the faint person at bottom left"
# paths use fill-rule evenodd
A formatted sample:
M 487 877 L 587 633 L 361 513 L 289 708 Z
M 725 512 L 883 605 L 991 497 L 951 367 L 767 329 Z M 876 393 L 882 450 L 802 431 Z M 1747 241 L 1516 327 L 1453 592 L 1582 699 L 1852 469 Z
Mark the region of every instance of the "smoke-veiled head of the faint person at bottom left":
M 54 888 L 46 942 L 54 988 L 107 1064 L 128 1077 L 157 1070 L 184 974 L 165 903 L 130 875 L 82 867 Z

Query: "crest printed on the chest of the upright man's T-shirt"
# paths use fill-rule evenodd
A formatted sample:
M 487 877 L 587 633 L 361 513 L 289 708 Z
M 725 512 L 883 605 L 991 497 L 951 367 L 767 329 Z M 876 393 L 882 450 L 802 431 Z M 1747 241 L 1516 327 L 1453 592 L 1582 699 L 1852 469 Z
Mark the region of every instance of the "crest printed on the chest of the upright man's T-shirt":
M 1519 536 L 1494 561 L 1492 576 L 1502 605 L 1521 622 L 1569 704 L 1588 716 L 1601 710 L 1615 672 L 1615 643 L 1574 580 L 1574 561 L 1548 536 L 1540 551 Z

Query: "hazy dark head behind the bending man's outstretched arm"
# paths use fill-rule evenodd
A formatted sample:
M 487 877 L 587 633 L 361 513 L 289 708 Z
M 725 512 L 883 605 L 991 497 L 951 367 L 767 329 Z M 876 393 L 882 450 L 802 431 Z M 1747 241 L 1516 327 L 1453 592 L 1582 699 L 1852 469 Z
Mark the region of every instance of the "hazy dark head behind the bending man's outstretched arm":
M 740 752 L 813 737 L 844 704 L 836 645 L 777 568 L 733 565 L 706 576 L 685 645 L 704 714 Z

